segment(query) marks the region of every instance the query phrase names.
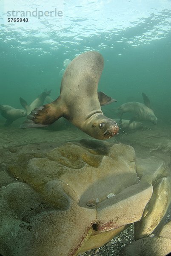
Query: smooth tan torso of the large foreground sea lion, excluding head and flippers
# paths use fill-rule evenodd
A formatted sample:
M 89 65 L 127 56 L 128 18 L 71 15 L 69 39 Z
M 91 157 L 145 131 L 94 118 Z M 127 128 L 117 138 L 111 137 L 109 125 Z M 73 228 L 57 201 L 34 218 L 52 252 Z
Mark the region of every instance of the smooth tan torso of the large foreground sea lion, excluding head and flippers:
M 95 54 L 93 59 L 87 57 L 87 65 L 85 65 L 85 61 L 79 61 L 82 57 L 83 55 L 80 55 L 75 58 L 72 65 L 66 69 L 62 79 L 60 98 L 64 99 L 63 104 L 69 110 L 67 119 L 85 131 L 92 119 L 95 121 L 96 113 L 103 115 L 97 95 L 97 85 L 103 70 L 103 58 L 100 54 Z M 84 76 L 82 76 L 83 72 Z

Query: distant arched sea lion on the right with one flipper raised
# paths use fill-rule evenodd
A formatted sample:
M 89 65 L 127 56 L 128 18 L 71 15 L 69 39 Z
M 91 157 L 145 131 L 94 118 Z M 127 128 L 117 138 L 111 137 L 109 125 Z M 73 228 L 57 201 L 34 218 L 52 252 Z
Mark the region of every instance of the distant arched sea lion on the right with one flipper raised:
M 144 103 L 140 102 L 127 102 L 117 108 L 117 112 L 120 116 L 125 112 L 131 112 L 136 114 L 131 120 L 130 123 L 134 120 L 146 120 L 150 121 L 153 124 L 157 124 L 157 117 L 154 114 L 154 111 L 151 109 L 150 101 L 145 93 L 142 93 Z

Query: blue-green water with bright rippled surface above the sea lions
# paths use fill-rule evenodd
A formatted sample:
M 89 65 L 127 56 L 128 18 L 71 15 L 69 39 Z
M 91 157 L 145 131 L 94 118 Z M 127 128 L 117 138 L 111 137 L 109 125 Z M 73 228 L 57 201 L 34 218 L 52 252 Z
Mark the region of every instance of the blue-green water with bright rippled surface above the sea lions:
M 54 3 L 49 2 L 51 5 Z M 94 1 L 94 4 L 100 6 L 101 2 Z M 51 90 L 53 99 L 57 98 L 60 93 L 60 70 L 63 69 L 63 61 L 66 58 L 72 60 L 86 50 L 97 50 L 105 61 L 98 90 L 117 99 L 117 103 L 103 108 L 104 113 L 114 117 L 116 107 L 129 101 L 142 102 L 141 93 L 144 92 L 151 100 L 158 119 L 170 124 L 171 1 L 151 1 L 151 6 L 148 6 L 147 1 L 122 1 L 120 5 L 116 1 L 104 2 L 104 9 L 98 10 L 99 13 L 97 12 L 94 19 L 90 7 L 86 9 L 86 13 L 80 12 L 79 16 L 79 12 L 75 12 L 72 16 L 71 8 L 76 8 L 77 1 L 61 1 L 63 17 L 58 20 L 37 18 L 39 23 L 34 25 L 34 22 L 31 23 L 33 17 L 30 17 L 31 27 L 24 23 L 20 26 L 16 23 L 2 24 L 0 104 L 21 108 L 20 96 L 29 104 L 45 88 Z M 41 2 L 41 8 L 44 3 L 45 1 Z M 84 10 L 93 1 L 85 3 L 85 6 L 82 3 L 82 7 L 78 6 L 77 9 Z M 28 8 L 31 4 L 34 3 L 29 1 Z M 133 8 L 127 6 L 129 4 L 134 6 L 131 11 L 133 17 L 125 25 L 128 19 L 125 10 Z M 5 9 L 12 9 L 7 3 L 4 6 Z M 100 25 L 101 17 L 106 22 L 104 25 Z M 121 22 L 119 26 L 117 19 L 124 21 L 123 24 Z M 45 25 L 44 30 L 39 30 L 39 24 L 42 23 Z

